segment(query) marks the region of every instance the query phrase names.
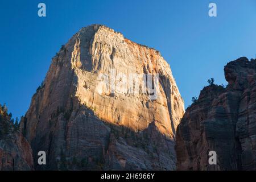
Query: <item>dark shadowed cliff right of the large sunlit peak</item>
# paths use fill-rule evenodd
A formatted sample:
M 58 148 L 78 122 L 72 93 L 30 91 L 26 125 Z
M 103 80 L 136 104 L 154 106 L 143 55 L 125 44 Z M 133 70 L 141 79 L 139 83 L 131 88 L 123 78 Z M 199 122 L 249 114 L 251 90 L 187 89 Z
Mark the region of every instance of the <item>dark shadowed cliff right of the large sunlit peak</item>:
M 210 85 L 177 127 L 178 170 L 256 170 L 256 60 L 228 63 L 227 88 Z M 217 165 L 209 165 L 209 151 Z

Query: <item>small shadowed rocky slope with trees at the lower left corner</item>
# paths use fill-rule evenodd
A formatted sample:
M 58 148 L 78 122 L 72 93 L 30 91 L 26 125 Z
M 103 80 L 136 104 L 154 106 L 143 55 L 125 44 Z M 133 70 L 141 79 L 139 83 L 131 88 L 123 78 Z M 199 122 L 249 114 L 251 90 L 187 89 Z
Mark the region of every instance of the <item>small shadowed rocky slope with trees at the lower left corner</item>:
M 0 105 L 0 171 L 33 169 L 32 150 Z

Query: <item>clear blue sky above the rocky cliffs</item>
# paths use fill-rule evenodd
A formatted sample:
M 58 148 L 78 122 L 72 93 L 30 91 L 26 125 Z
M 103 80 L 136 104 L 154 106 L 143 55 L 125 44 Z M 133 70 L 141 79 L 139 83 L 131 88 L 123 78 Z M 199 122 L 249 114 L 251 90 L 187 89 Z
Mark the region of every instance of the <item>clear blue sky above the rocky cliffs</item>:
M 39 18 L 44 2 L 47 17 Z M 210 2 L 217 17 L 208 16 Z M 0 103 L 24 115 L 51 58 L 81 27 L 105 24 L 158 49 L 171 65 L 185 107 L 207 79 L 226 84 L 228 61 L 256 54 L 255 0 L 1 1 Z

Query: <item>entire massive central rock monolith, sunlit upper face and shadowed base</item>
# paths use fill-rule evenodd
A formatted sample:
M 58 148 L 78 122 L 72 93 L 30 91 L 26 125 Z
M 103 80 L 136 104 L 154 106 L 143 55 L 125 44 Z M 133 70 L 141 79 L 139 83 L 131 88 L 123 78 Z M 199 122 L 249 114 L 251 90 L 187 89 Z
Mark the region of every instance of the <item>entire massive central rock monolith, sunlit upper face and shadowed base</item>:
M 158 51 L 92 25 L 53 57 L 21 128 L 36 169 L 172 170 L 183 114 L 170 65 Z M 41 150 L 45 166 L 36 163 Z

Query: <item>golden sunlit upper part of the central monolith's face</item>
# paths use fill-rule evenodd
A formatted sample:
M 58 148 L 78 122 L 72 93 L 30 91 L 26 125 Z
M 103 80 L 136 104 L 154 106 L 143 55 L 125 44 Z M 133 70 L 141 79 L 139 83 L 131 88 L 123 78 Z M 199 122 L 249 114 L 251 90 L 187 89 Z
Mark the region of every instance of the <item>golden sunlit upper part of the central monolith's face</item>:
M 76 96 L 81 103 L 95 108 L 96 114 L 107 122 L 125 126 L 132 122 L 133 130 L 140 131 L 156 121 L 163 134 L 174 137 L 173 130 L 183 116 L 184 106 L 170 66 L 160 53 L 139 46 L 108 27 L 98 28 L 88 42 L 84 42 L 86 33 L 84 29 L 80 31 L 76 47 L 88 48 L 91 59 L 88 51 L 75 50 L 73 61 L 78 77 Z M 152 84 L 146 84 L 146 77 L 156 85 L 155 92 Z M 170 81 L 169 85 L 161 84 L 162 77 Z M 129 80 L 133 80 L 136 94 L 131 89 L 129 92 Z

